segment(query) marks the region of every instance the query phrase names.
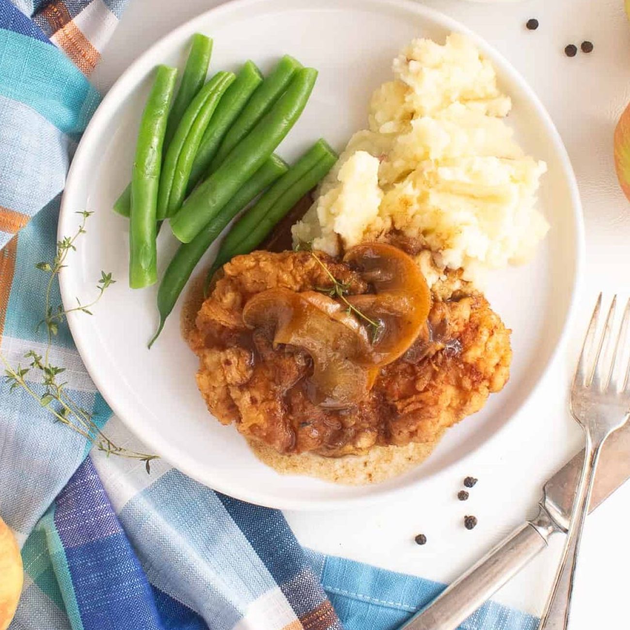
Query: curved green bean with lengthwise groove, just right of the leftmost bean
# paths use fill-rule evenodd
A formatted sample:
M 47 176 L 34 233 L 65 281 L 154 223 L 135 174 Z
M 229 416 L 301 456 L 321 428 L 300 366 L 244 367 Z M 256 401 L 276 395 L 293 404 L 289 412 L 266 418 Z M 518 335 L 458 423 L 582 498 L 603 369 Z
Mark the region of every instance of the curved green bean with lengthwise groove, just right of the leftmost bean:
M 236 77 L 232 72 L 217 72 L 193 98 L 181 117 L 169 144 L 159 180 L 157 219 L 166 219 L 178 210 L 186 194 L 188 176 L 197 147 L 210 118 L 229 85 Z

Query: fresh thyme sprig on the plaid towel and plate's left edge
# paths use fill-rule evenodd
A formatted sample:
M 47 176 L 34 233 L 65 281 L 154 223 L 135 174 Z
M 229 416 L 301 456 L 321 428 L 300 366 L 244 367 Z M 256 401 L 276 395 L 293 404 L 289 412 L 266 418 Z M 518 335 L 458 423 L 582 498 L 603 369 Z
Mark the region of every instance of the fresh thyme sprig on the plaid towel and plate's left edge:
M 54 281 L 57 279 L 60 270 L 66 266 L 64 263 L 69 251 L 76 250 L 75 243 L 77 238 L 79 238 L 81 234 L 85 234 L 86 221 L 92 213 L 83 211 L 77 212 L 77 214 L 80 214 L 83 217 L 83 221 L 77 229 L 76 234 L 57 242 L 55 257 L 51 262 L 42 262 L 35 265 L 40 271 L 49 274 L 44 299 L 45 315 L 42 321 L 37 324 L 36 329 L 37 331 L 42 325 L 46 327 L 46 350 L 43 356 L 39 355 L 35 352 L 35 350 L 29 350 L 24 355 L 25 358 L 30 359 L 28 367 L 22 367 L 18 364 L 16 368 L 9 364 L 6 357 L 0 353 L 0 359 L 5 367 L 4 380 L 9 384 L 9 392 L 13 392 L 18 387 L 21 387 L 29 396 L 31 396 L 31 398 L 38 401 L 42 407 L 45 407 L 52 416 L 54 416 L 55 421 L 66 425 L 74 432 L 82 435 L 86 438 L 86 440 L 95 444 L 98 450 L 105 452 L 108 456 L 118 455 L 120 457 L 129 457 L 130 459 L 139 459 L 145 463 L 147 473 L 150 473 L 150 462 L 156 459 L 157 455 L 139 453 L 114 444 L 95 423 L 92 414 L 77 404 L 76 401 L 72 400 L 66 389 L 67 382 L 59 382 L 60 379 L 58 377 L 66 371 L 66 368 L 58 367 L 50 363 L 52 338 L 59 333 L 59 324 L 67 318 L 67 314 L 75 311 L 81 311 L 85 314 L 91 315 L 92 312 L 89 309 L 95 306 L 105 293 L 105 290 L 115 282 L 115 280 L 112 279 L 111 273 L 101 271 L 101 278 L 96 283 L 98 293 L 96 298 L 89 302 L 89 304 L 82 304 L 77 298 L 77 306 L 72 307 L 71 309 L 64 309 L 62 304 L 59 304 L 57 307 L 52 307 L 51 295 Z M 29 374 L 37 374 L 37 377 L 41 379 L 44 388 L 43 394 L 38 394 L 33 387 L 28 384 L 26 377 Z M 32 381 L 32 379 L 30 380 Z

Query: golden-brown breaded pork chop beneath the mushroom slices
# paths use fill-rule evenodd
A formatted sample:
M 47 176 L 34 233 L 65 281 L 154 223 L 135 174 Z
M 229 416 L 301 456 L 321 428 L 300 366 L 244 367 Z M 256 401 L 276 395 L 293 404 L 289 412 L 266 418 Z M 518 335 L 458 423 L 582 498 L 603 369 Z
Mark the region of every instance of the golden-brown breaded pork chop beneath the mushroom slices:
M 345 263 L 318 253 L 348 293 L 370 287 Z M 445 428 L 483 407 L 508 380 L 510 331 L 457 274 L 433 286 L 427 325 L 409 350 L 379 369 L 364 400 L 348 408 L 316 405 L 307 395 L 312 361 L 243 322 L 255 294 L 282 287 L 321 290 L 330 280 L 311 253 L 256 251 L 217 274 L 188 341 L 200 358 L 197 383 L 223 424 L 280 453 L 327 457 L 364 454 L 375 445 L 433 442 Z M 456 288 L 455 288 L 456 287 Z

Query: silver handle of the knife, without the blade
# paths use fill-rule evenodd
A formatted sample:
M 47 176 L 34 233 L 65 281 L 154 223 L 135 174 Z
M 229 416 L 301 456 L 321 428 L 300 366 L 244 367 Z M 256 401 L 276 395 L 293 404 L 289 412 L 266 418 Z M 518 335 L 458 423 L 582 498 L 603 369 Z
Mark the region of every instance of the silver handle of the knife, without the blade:
M 541 506 L 534 520 L 518 527 L 399 630 L 455 630 L 540 553 L 556 531 Z

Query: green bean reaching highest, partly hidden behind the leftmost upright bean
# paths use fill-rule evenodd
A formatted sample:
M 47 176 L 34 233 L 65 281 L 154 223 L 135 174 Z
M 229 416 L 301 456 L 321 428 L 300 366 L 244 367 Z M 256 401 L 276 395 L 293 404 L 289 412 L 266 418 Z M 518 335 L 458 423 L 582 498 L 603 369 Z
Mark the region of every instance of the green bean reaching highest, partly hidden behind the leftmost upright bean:
M 180 88 L 177 91 L 171 112 L 168 115 L 166 134 L 164 135 L 164 149 L 168 149 L 171 137 L 175 134 L 181 116 L 203 85 L 203 81 L 205 81 L 211 54 L 212 40 L 205 37 L 205 35 L 195 33 L 195 35 L 193 35 L 193 43 L 190 47 L 190 52 L 188 53 L 188 59 L 186 60 L 184 74 L 183 77 L 181 77 Z M 114 202 L 113 209 L 123 217 L 129 217 L 131 209 L 131 183 L 127 184 L 127 188 L 120 193 L 117 200 Z

